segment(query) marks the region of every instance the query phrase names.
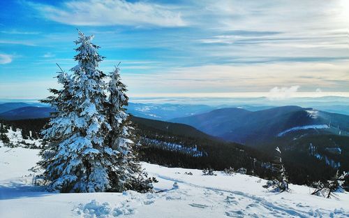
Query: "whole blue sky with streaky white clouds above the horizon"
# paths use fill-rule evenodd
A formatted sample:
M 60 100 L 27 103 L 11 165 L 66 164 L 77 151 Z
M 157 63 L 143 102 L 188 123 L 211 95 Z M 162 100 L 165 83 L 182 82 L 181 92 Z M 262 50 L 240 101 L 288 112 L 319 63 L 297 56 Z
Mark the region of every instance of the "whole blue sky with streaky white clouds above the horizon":
M 349 96 L 349 0 L 0 1 L 0 99 L 42 99 L 94 34 L 128 95 Z

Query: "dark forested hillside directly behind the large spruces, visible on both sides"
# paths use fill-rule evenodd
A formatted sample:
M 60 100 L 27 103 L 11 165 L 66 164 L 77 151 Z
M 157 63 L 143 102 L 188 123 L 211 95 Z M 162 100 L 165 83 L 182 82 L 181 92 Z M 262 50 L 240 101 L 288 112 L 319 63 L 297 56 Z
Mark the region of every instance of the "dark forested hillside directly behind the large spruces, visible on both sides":
M 246 168 L 261 177 L 270 177 L 272 170 L 264 166 L 270 158 L 237 143 L 225 143 L 184 124 L 131 117 L 135 126 L 140 159 L 163 166 L 184 168 Z M 48 119 L 2 121 L 8 128 L 20 130 L 20 139 L 38 138 Z M 1 123 L 1 122 L 0 122 Z M 30 137 L 32 136 L 32 137 Z M 17 143 L 13 143 L 17 145 Z

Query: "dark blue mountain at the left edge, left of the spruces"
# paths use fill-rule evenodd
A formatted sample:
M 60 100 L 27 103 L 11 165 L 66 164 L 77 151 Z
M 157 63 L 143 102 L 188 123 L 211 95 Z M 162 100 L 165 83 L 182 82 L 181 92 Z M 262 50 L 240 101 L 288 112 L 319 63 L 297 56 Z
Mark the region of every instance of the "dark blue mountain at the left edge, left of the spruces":
M 0 119 L 35 119 L 50 117 L 52 108 L 27 106 L 0 113 Z

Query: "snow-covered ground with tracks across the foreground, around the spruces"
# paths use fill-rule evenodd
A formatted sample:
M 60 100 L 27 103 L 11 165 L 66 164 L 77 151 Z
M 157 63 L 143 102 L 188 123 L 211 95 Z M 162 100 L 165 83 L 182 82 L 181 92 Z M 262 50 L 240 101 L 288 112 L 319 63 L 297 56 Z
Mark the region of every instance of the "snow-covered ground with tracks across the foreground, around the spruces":
M 309 187 L 290 193 L 262 188 L 249 175 L 202 175 L 201 170 L 142 163 L 158 183 L 154 194 L 54 194 L 32 185 L 29 168 L 38 150 L 0 147 L 0 217 L 349 217 L 349 194 L 311 196 Z M 187 175 L 191 172 L 193 175 Z M 177 185 L 174 185 L 177 182 Z M 177 187 L 178 186 L 178 187 Z

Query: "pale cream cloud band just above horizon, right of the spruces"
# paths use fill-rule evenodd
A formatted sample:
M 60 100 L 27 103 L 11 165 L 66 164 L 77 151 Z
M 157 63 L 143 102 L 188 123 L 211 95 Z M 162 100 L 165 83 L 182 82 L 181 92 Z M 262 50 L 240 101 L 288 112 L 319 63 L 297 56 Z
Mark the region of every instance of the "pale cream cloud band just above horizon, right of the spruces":
M 270 91 L 273 98 L 281 98 L 298 91 L 299 87 L 302 92 L 313 92 L 314 84 L 325 92 L 348 92 L 348 64 L 348 61 L 337 61 L 331 64 L 206 65 L 171 68 L 158 73 L 121 73 L 131 93 Z M 151 89 L 149 84 L 152 84 Z M 291 88 L 283 88 L 290 85 Z M 272 87 L 275 88 L 271 90 Z

